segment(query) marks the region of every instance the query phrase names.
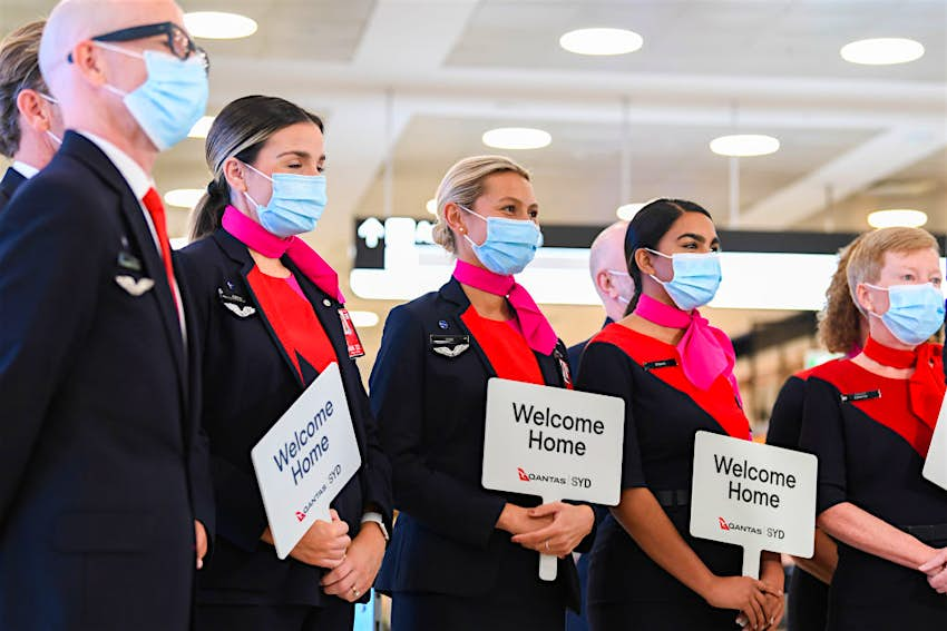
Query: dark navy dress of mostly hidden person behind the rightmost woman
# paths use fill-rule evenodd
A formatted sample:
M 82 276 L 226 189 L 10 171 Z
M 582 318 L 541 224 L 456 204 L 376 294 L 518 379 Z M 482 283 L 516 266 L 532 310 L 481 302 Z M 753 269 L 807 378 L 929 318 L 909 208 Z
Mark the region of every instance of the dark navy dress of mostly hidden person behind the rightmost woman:
M 801 371 L 789 377 L 773 404 L 767 444 L 788 450 L 799 448 L 802 432 L 802 406 L 806 401 L 806 379 L 811 369 Z M 829 610 L 829 585 L 795 566 L 787 589 L 787 607 L 790 631 L 821 630 L 826 628 Z

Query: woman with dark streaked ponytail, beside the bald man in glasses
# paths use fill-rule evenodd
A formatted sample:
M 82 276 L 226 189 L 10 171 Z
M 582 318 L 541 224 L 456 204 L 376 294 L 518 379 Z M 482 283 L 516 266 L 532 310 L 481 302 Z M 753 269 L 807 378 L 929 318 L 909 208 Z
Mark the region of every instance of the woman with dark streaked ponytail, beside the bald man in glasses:
M 203 424 L 217 540 L 201 573 L 196 629 L 351 629 L 391 529 L 388 460 L 335 272 L 297 235 L 325 206 L 322 121 L 283 99 L 244 97 L 207 136 L 214 180 L 177 255 L 202 332 Z M 250 452 L 330 364 L 342 375 L 362 465 L 281 561 Z

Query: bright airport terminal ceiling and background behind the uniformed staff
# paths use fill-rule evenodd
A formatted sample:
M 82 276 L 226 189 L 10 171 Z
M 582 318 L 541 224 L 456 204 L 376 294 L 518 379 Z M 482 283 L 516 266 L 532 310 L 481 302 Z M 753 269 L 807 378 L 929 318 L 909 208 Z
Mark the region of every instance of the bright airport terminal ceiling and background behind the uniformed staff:
M 567 345 L 605 317 L 588 274 L 601 229 L 657 197 L 707 208 L 724 279 L 702 313 L 734 339 L 759 436 L 784 379 L 826 357 L 816 322 L 838 248 L 887 225 L 944 245 L 943 0 L 180 4 L 211 97 L 154 171 L 173 244 L 211 180 L 223 106 L 261 93 L 319 114 L 329 204 L 304 238 L 339 270 L 365 379 L 389 310 L 450 275 L 432 198 L 465 156 L 531 172 L 545 247 L 521 282 Z M 0 0 L 0 33 L 53 6 Z

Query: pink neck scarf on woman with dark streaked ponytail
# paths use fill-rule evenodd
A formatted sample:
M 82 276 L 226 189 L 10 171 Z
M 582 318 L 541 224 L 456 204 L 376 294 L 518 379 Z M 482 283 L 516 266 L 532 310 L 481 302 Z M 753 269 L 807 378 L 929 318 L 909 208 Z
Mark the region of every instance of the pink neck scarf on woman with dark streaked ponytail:
M 316 287 L 335 297 L 340 303 L 345 303 L 345 296 L 339 289 L 339 275 L 301 238 L 277 237 L 233 206 L 227 206 L 224 210 L 221 225 L 243 245 L 263 256 L 280 258 L 284 254 L 290 255 L 290 260 L 296 264 L 300 272 L 305 274 Z

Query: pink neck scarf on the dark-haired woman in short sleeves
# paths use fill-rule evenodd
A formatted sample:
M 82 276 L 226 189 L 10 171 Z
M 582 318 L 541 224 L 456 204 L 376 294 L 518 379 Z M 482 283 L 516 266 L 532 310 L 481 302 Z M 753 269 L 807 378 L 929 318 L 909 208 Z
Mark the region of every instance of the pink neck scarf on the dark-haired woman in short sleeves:
M 658 326 L 683 328 L 684 336 L 677 343 L 681 355 L 681 368 L 692 384 L 701 390 L 709 390 L 714 379 L 726 375 L 736 397 L 736 377 L 733 376 L 735 355 L 733 343 L 721 329 L 711 326 L 697 309 L 691 313 L 660 303 L 642 294 L 635 307 L 635 315 Z

